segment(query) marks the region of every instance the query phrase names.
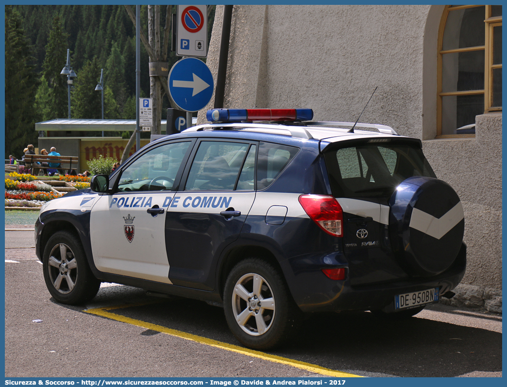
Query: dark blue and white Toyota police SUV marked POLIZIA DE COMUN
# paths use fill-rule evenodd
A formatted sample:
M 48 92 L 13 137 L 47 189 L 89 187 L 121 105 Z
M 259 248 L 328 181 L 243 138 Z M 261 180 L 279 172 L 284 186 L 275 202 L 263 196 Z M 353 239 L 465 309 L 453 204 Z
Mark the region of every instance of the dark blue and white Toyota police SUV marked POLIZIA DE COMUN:
M 311 122 L 311 109 L 207 118 L 43 206 L 36 249 L 55 300 L 84 303 L 101 282 L 200 299 L 265 350 L 303 314 L 410 317 L 453 295 L 463 207 L 419 139 Z

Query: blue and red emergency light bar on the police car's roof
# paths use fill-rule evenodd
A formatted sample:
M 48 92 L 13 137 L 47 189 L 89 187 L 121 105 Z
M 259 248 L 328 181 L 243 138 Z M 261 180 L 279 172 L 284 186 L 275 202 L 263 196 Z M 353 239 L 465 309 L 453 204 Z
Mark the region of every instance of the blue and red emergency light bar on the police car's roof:
M 206 112 L 210 122 L 310 121 L 312 109 L 211 109 Z

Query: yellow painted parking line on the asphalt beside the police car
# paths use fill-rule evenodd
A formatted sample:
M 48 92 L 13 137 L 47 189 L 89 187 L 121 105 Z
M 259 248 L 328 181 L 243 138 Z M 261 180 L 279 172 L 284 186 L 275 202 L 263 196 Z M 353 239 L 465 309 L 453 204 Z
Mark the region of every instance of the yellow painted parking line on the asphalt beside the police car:
M 154 303 L 154 302 L 152 302 L 152 303 Z M 354 375 L 354 374 L 347 373 L 347 372 L 340 372 L 340 371 L 335 371 L 335 370 L 332 370 L 329 368 L 320 367 L 320 366 L 310 364 L 310 363 L 300 362 L 300 361 L 293 360 L 293 359 L 282 358 L 281 356 L 270 355 L 270 354 L 266 354 L 264 352 L 255 351 L 255 350 L 249 350 L 247 348 L 243 348 L 238 345 L 228 344 L 225 342 L 209 339 L 207 337 L 193 335 L 191 333 L 178 331 L 176 329 L 166 328 L 161 325 L 148 323 L 146 321 L 135 320 L 135 319 L 131 319 L 129 317 L 125 317 L 125 316 L 117 315 L 115 313 L 108 312 L 108 311 L 111 311 L 112 309 L 121 309 L 121 308 L 126 308 L 126 307 L 142 306 L 142 305 L 147 305 L 147 304 L 148 303 L 137 303 L 137 304 L 125 304 L 125 305 L 118 305 L 118 306 L 98 307 L 98 308 L 94 308 L 94 309 L 86 309 L 84 312 L 90 313 L 90 314 L 96 315 L 96 316 L 105 317 L 105 318 L 108 318 L 111 320 L 120 321 L 122 323 L 135 325 L 135 326 L 138 326 L 141 328 L 146 328 L 146 329 L 151 329 L 153 331 L 166 333 L 171 336 L 184 338 L 186 340 L 195 341 L 195 342 L 198 342 L 201 344 L 214 346 L 216 348 L 220 348 L 220 349 L 223 349 L 226 351 L 235 352 L 235 353 L 238 353 L 241 355 L 251 356 L 254 358 L 263 359 L 263 360 L 267 360 L 267 361 L 274 362 L 274 363 L 286 364 L 286 365 L 289 365 L 292 367 L 300 368 L 300 369 L 314 372 L 314 373 L 318 373 L 321 375 L 327 375 L 327 376 L 333 376 L 333 377 L 362 377 L 362 376 Z

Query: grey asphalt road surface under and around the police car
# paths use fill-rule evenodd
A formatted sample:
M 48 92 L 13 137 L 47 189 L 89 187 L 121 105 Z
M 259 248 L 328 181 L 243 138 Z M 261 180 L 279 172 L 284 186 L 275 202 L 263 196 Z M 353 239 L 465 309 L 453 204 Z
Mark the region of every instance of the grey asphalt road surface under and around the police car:
M 283 349 L 259 355 L 237 347 L 223 309 L 201 301 L 103 284 L 89 304 L 61 305 L 44 284 L 33 230 L 13 228 L 5 238 L 6 377 L 502 375 L 501 315 L 472 309 L 431 305 L 404 322 L 316 315 Z

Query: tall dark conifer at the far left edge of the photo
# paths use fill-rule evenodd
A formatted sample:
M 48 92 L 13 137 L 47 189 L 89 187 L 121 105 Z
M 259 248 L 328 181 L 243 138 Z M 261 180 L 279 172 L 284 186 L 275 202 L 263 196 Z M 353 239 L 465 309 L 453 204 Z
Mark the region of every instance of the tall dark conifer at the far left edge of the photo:
M 19 13 L 5 7 L 5 152 L 21 157 L 23 148 L 37 140 L 35 91 L 37 76 L 29 64 L 32 47 Z

